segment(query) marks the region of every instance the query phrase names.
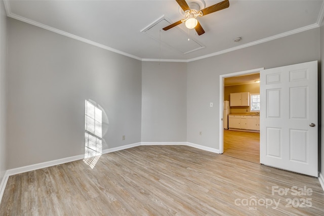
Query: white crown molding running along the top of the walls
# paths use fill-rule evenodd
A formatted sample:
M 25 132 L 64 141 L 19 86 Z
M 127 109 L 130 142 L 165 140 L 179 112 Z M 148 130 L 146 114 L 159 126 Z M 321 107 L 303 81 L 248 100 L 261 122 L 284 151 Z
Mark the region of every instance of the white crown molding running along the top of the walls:
M 67 37 L 82 41 L 82 42 L 85 42 L 87 44 L 90 44 L 90 45 L 93 45 L 93 46 L 96 46 L 96 47 L 99 47 L 99 48 L 102 48 L 102 49 L 105 49 L 105 50 L 108 50 L 108 51 L 111 51 L 111 52 L 114 52 L 114 53 L 117 53 L 117 54 L 120 54 L 120 55 L 130 57 L 130 58 L 142 61 L 142 62 L 186 62 L 186 63 L 188 63 L 188 62 L 193 62 L 193 61 L 197 61 L 197 60 L 201 60 L 201 59 L 206 59 L 206 58 L 209 58 L 209 57 L 218 56 L 218 55 L 221 55 L 221 54 L 224 54 L 224 53 L 228 53 L 228 52 L 232 52 L 232 51 L 235 51 L 235 50 L 251 47 L 251 46 L 254 46 L 254 45 L 262 44 L 263 42 L 267 42 L 267 41 L 270 41 L 270 40 L 278 39 L 278 38 L 281 38 L 281 37 L 289 36 L 289 35 L 292 35 L 292 34 L 296 34 L 296 33 L 299 33 L 299 32 L 303 32 L 303 31 L 307 31 L 307 30 L 310 30 L 310 29 L 313 29 L 313 28 L 320 27 L 320 25 L 321 25 L 321 23 L 322 23 L 322 21 L 324 19 L 324 1 L 323 1 L 321 9 L 320 9 L 319 14 L 318 14 L 318 18 L 317 18 L 316 23 L 308 25 L 308 26 L 304 26 L 304 27 L 301 27 L 301 28 L 298 28 L 298 29 L 294 29 L 294 30 L 291 30 L 291 31 L 281 33 L 281 34 L 277 34 L 277 35 L 274 35 L 274 36 L 270 36 L 270 37 L 266 37 L 266 38 L 263 38 L 263 39 L 260 39 L 260 40 L 256 40 L 256 41 L 250 42 L 248 44 L 240 45 L 240 46 L 237 46 L 237 47 L 229 48 L 229 49 L 226 49 L 226 50 L 211 53 L 211 54 L 208 54 L 208 55 L 205 55 L 205 56 L 199 56 L 199 57 L 192 58 L 192 59 L 146 59 L 146 58 L 140 58 L 138 56 L 134 56 L 132 54 L 125 53 L 125 52 L 113 49 L 111 47 L 99 44 L 98 42 L 94 42 L 92 40 L 89 40 L 89 39 L 86 39 L 86 38 L 83 38 L 83 37 L 79 37 L 79 36 L 76 36 L 74 34 L 70 34 L 68 32 L 53 28 L 51 26 L 44 25 L 42 23 L 39 23 L 39 22 L 30 20 L 30 19 L 27 19 L 25 17 L 16 15 L 16 14 L 11 12 L 9 0 L 4 0 L 4 4 L 5 4 L 5 9 L 6 9 L 8 17 L 20 20 L 22 22 L 25 22 L 25 23 L 28 23 L 28 24 L 31 24 L 31 25 L 35 25 L 35 26 L 40 27 L 40 28 L 47 29 L 49 31 L 52 31 L 52 32 L 55 32 L 55 33 L 58 33 L 58 34 L 61 34 L 61 35 L 64 35 L 64 36 L 67 36 Z

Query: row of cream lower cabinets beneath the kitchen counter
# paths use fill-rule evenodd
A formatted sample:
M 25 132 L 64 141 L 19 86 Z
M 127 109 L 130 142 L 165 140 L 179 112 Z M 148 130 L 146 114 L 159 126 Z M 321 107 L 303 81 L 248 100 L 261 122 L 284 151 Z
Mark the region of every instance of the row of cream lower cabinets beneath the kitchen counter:
M 228 127 L 260 131 L 260 116 L 258 115 L 228 115 Z

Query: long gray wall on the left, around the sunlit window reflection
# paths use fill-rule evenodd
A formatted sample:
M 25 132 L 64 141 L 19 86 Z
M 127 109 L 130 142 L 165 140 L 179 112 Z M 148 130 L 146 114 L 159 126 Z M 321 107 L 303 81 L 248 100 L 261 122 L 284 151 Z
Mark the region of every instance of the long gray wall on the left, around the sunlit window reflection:
M 107 113 L 104 148 L 141 141 L 140 61 L 8 21 L 8 169 L 84 154 L 86 99 Z

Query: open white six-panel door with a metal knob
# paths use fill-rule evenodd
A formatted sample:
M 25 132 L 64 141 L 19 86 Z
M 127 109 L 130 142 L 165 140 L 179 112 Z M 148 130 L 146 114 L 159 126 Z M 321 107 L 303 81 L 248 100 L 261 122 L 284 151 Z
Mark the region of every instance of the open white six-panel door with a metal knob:
M 260 163 L 317 177 L 317 61 L 263 70 L 260 81 Z

